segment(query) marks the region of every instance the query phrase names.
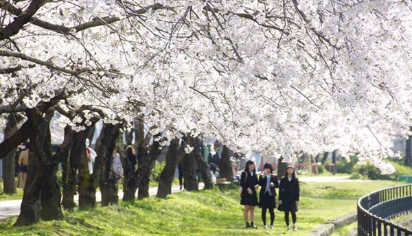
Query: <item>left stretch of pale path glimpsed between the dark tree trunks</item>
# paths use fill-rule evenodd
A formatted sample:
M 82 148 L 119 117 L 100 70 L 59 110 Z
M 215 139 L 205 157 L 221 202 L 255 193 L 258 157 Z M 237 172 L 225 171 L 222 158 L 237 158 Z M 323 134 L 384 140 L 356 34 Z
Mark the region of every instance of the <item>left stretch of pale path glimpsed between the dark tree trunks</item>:
M 202 185 L 203 186 L 203 185 Z M 201 186 L 199 186 L 201 187 Z M 172 186 L 172 193 L 177 193 L 181 191 L 179 189 L 179 185 Z M 137 191 L 136 191 L 137 193 Z M 155 196 L 157 194 L 157 187 L 150 187 L 149 188 L 149 195 Z M 136 195 L 137 196 L 137 195 Z M 119 199 L 123 198 L 123 191 L 122 189 L 119 190 Z M 77 194 L 74 196 L 74 201 L 78 204 L 79 203 L 79 195 Z M 96 202 L 102 201 L 102 194 L 100 191 L 96 192 Z M 0 201 L 0 220 L 5 217 L 10 217 L 12 215 L 19 215 L 20 213 L 20 205 L 21 199 L 19 200 L 8 200 L 8 201 Z

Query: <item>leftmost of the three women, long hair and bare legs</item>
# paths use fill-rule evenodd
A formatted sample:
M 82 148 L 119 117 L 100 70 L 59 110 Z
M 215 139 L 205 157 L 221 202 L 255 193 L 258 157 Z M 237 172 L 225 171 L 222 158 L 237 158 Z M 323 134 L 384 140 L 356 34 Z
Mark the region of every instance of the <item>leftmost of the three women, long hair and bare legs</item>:
M 240 204 L 244 206 L 243 217 L 246 228 L 258 228 L 253 223 L 255 206 L 258 205 L 258 195 L 256 193 L 258 187 L 255 163 L 249 160 L 240 176 Z M 249 220 L 251 221 L 250 224 Z

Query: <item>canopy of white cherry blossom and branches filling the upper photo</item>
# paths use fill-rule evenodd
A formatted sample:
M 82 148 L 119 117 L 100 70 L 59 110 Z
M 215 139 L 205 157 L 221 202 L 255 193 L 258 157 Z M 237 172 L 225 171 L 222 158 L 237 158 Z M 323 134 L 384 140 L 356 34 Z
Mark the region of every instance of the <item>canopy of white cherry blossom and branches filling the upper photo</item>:
M 0 3 L 0 113 L 90 106 L 62 123 L 139 117 L 168 128 L 160 145 L 203 134 L 286 162 L 339 148 L 383 173 L 391 137 L 410 134 L 407 1 Z

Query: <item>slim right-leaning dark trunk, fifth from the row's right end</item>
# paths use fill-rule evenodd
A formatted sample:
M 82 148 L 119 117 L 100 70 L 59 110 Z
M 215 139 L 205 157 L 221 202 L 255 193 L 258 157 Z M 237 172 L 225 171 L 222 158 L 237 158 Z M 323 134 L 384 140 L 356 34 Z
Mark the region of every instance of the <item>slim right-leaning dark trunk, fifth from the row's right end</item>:
M 160 137 L 160 134 L 155 135 L 154 138 L 156 137 Z M 137 169 L 137 186 L 139 187 L 137 192 L 138 199 L 149 197 L 150 175 L 152 174 L 153 165 L 155 165 L 155 161 L 161 153 L 159 147 L 159 141 L 153 141 L 149 154 L 146 158 L 141 160 L 141 164 Z

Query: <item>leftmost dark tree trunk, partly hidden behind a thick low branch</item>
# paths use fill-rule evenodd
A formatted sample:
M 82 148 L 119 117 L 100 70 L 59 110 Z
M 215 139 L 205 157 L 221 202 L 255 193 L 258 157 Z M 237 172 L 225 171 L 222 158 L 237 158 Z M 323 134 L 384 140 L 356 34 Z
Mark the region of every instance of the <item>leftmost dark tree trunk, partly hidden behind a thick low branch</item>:
M 18 114 L 9 114 L 8 122 L 4 128 L 4 140 L 11 137 L 14 132 L 18 130 L 17 123 L 19 123 L 23 117 Z M 16 151 L 9 152 L 5 158 L 3 158 L 3 187 L 4 193 L 13 194 L 16 193 L 16 182 L 14 180 L 14 156 Z

